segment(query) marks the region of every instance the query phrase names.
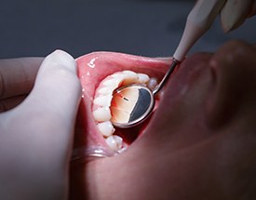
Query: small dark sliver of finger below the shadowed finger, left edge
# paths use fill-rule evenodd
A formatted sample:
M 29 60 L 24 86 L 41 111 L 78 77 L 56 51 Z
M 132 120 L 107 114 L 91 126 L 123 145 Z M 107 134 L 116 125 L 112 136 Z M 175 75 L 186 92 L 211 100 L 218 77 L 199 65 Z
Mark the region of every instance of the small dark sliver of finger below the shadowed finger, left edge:
M 4 100 L 0 100 L 0 113 L 6 112 L 15 106 L 19 105 L 27 95 L 20 95 L 12 98 L 7 98 Z

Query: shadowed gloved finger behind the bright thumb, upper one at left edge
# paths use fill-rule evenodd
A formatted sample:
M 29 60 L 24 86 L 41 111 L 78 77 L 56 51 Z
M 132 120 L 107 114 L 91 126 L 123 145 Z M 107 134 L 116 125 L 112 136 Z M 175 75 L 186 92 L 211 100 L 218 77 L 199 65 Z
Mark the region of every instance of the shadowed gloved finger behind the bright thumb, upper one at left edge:
M 43 58 L 0 60 L 0 99 L 28 94 Z

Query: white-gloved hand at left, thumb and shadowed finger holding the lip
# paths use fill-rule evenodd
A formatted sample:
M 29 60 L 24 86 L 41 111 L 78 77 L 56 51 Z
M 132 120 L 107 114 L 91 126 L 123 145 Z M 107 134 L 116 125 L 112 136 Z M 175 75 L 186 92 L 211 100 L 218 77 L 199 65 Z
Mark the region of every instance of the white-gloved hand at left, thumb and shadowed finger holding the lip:
M 7 110 L 0 113 L 1 199 L 67 197 L 81 87 L 69 54 L 57 50 L 41 61 L 0 60 L 0 104 Z

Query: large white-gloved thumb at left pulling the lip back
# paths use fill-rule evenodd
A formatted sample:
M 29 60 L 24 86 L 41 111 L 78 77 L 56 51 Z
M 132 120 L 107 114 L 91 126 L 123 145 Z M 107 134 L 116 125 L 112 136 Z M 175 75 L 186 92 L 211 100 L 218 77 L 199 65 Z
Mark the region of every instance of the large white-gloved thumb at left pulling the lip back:
M 48 199 L 49 193 L 67 195 L 68 161 L 80 97 L 75 60 L 61 50 L 48 55 L 30 95 L 0 115 L 1 167 L 7 168 L 4 180 L 12 183 L 7 189 L 18 188 L 22 195 L 32 191 L 26 194 L 37 197 L 40 193 L 42 199 Z

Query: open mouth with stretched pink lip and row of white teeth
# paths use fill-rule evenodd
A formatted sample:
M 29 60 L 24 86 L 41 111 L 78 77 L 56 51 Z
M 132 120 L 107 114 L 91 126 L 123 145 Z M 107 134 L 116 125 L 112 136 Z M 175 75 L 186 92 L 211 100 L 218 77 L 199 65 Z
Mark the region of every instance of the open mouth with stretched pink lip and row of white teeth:
M 74 149 L 106 156 L 124 152 L 140 138 L 151 123 L 151 117 L 139 126 L 117 128 L 112 124 L 113 92 L 118 87 L 141 84 L 154 89 L 167 72 L 171 59 L 151 59 L 114 52 L 95 52 L 78 58 L 78 77 L 83 94 L 80 104 Z M 155 109 L 161 100 L 155 97 Z M 154 109 L 154 111 L 155 111 Z

